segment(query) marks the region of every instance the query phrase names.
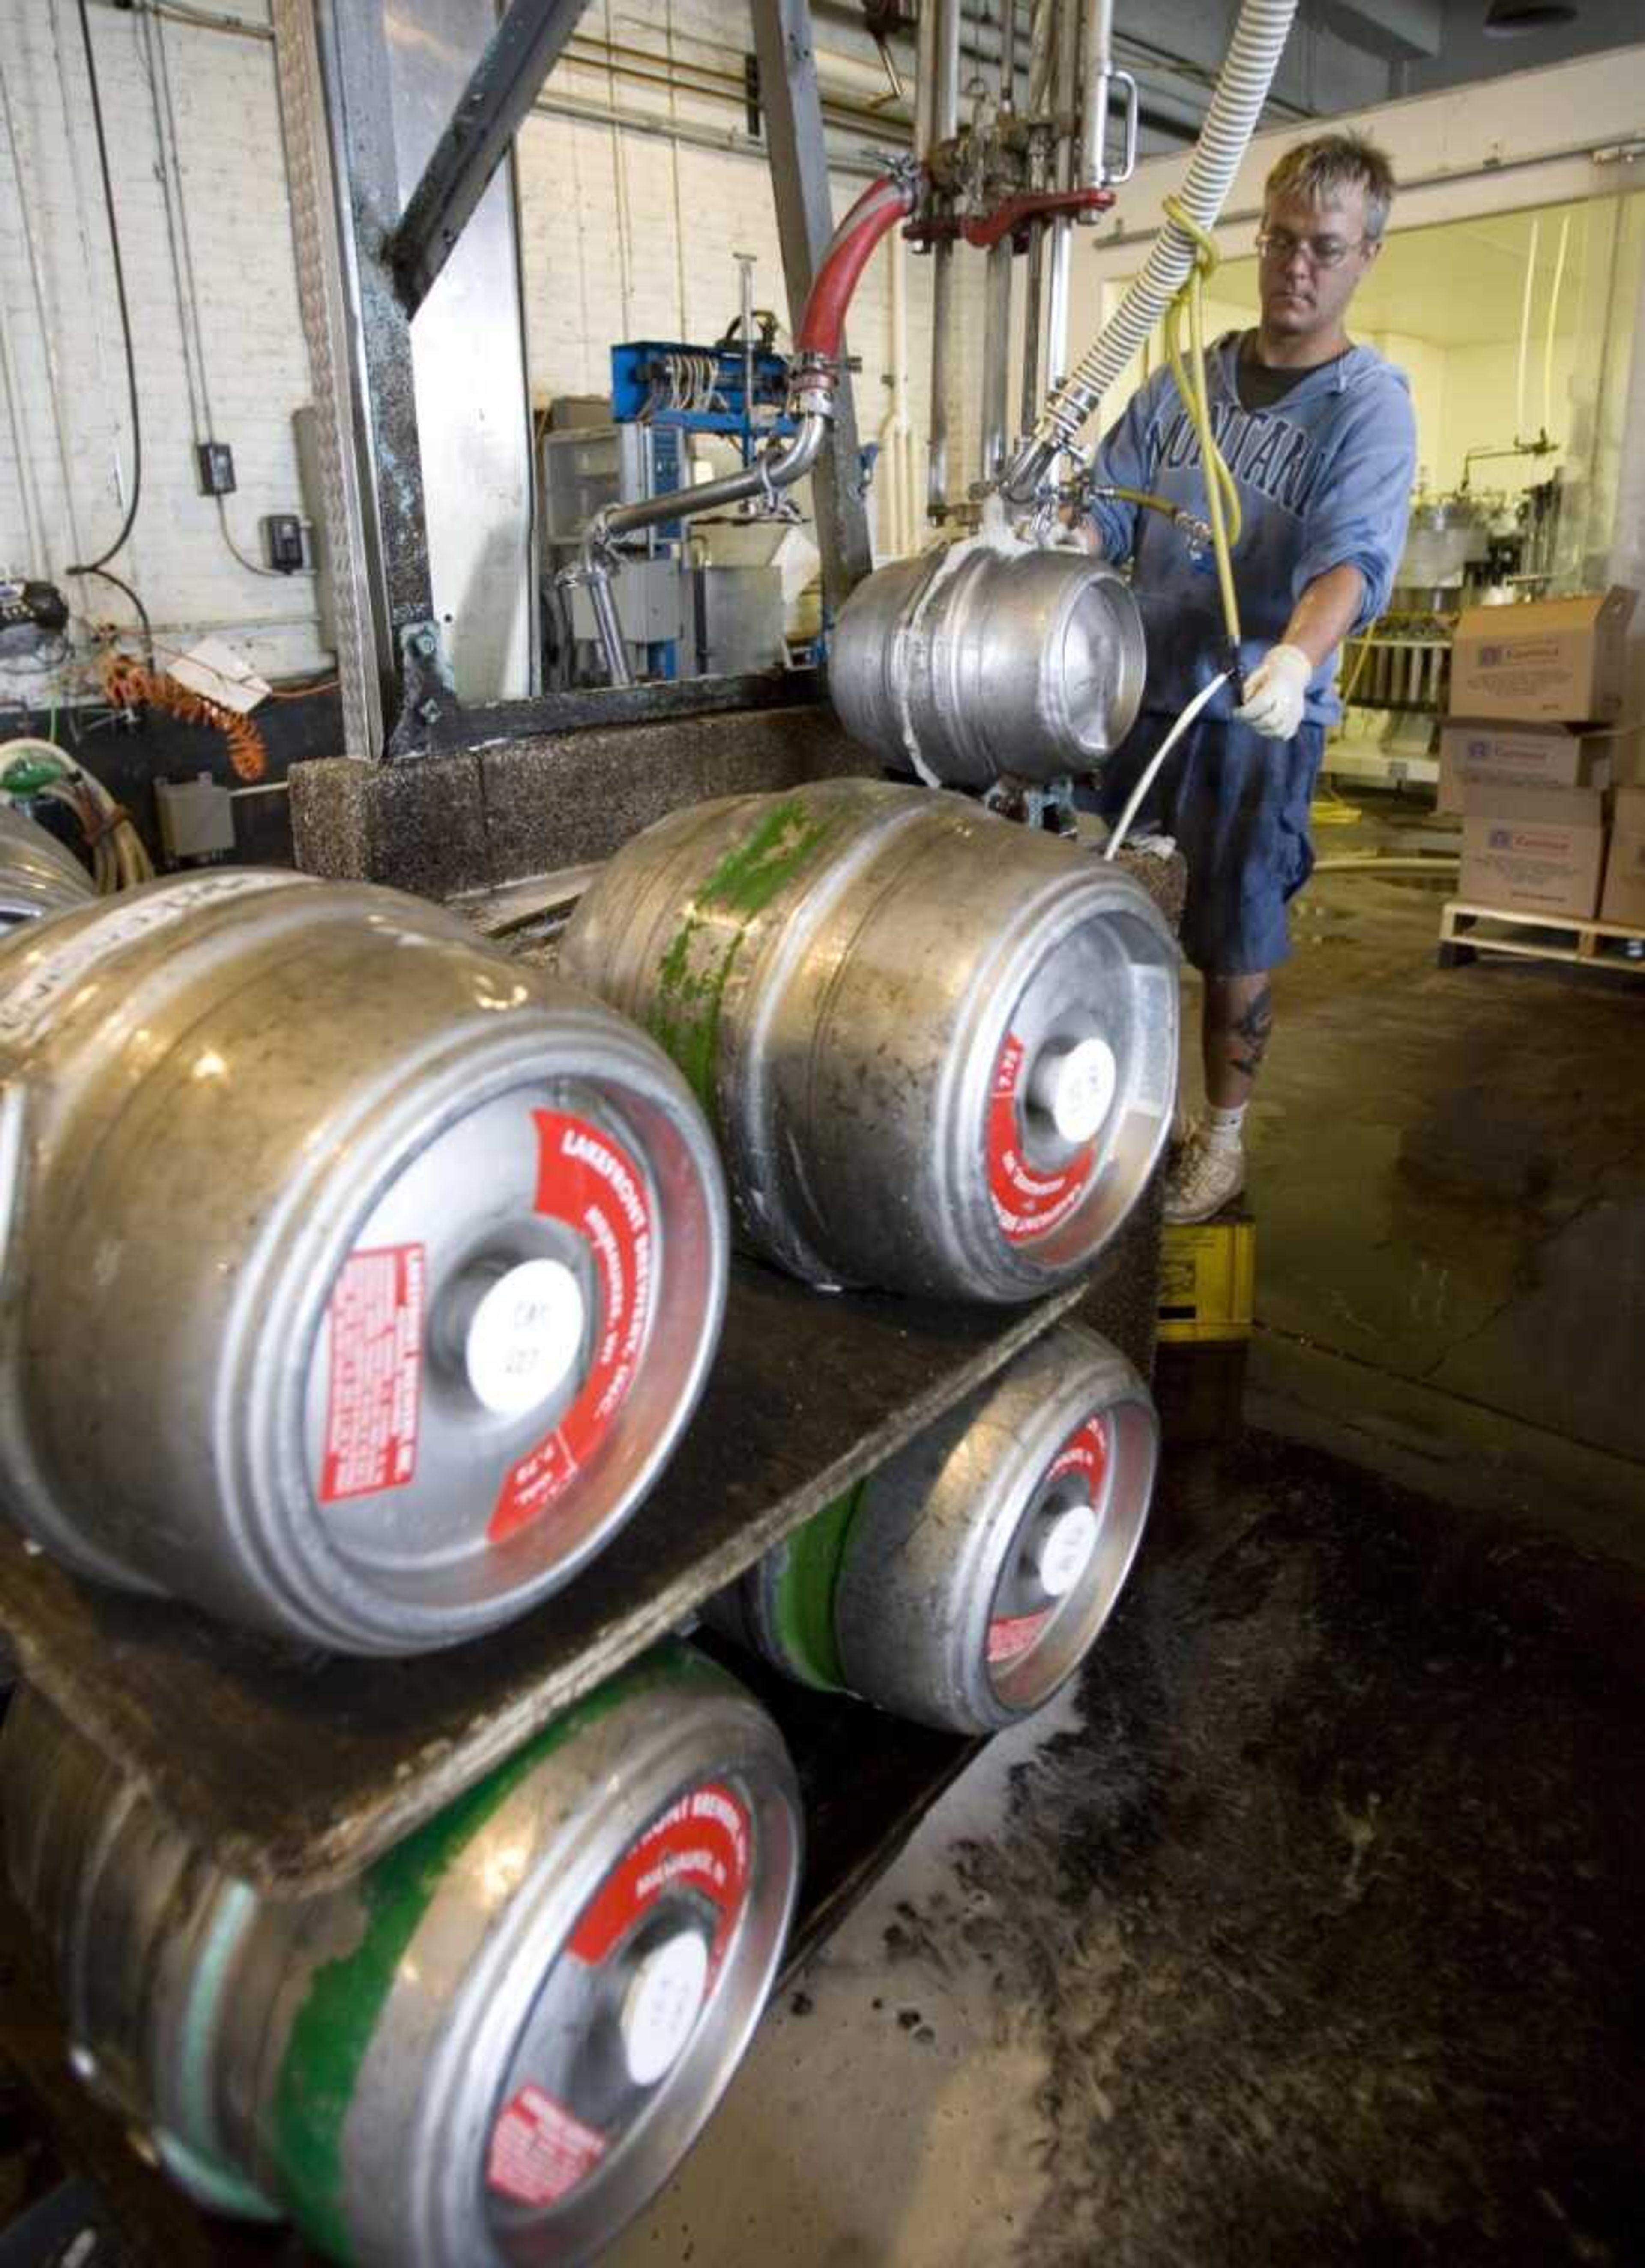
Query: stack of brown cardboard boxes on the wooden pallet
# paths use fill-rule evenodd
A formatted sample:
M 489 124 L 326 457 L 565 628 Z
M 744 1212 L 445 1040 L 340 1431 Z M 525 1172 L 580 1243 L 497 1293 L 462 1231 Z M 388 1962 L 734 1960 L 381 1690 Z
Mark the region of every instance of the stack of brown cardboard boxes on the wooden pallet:
M 1618 585 L 1461 615 L 1439 807 L 1461 812 L 1466 905 L 1645 928 L 1645 787 L 1618 785 L 1634 739 L 1616 733 L 1634 601 Z

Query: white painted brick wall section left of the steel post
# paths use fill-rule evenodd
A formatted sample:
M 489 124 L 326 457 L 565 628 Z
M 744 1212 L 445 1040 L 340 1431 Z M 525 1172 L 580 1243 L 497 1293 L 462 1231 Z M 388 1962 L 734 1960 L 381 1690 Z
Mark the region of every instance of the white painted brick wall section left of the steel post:
M 236 14 L 265 20 L 265 0 L 236 0 Z M 111 567 L 143 594 L 161 646 L 184 646 L 202 628 L 225 626 L 234 644 L 270 669 L 318 669 L 324 653 L 313 583 L 241 567 L 222 540 L 216 503 L 197 494 L 193 445 L 206 438 L 204 408 L 191 404 L 143 27 L 134 14 L 98 5 L 91 36 L 120 215 L 145 456 L 136 528 Z M 247 558 L 259 558 L 259 517 L 300 508 L 290 413 L 309 397 L 275 57 L 265 41 L 175 20 L 163 25 L 163 43 L 211 438 L 234 447 L 238 492 L 227 499 L 229 524 Z M 61 578 L 75 556 L 95 558 L 118 531 L 116 449 L 127 483 L 132 463 L 120 322 L 75 7 L 68 0 L 0 0 L 0 70 L 20 170 L 14 184 L 11 147 L 0 132 L 0 195 L 9 206 L 18 191 L 34 236 L 70 467 L 66 501 L 23 236 L 7 229 L 0 302 L 23 381 L 18 426 L 41 494 L 45 558 L 27 556 L 11 420 L 0 417 L 0 562 Z M 109 585 L 70 585 L 68 596 L 91 615 L 129 621 L 125 599 Z

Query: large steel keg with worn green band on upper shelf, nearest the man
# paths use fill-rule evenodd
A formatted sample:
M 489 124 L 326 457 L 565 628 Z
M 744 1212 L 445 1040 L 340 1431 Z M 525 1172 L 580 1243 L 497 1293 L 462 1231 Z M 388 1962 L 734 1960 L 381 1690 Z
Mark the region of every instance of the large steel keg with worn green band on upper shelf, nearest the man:
M 746 1243 L 819 1284 L 1032 1300 L 1164 1145 L 1178 948 L 1130 875 L 964 796 L 821 780 L 626 844 L 560 966 L 653 1032 Z

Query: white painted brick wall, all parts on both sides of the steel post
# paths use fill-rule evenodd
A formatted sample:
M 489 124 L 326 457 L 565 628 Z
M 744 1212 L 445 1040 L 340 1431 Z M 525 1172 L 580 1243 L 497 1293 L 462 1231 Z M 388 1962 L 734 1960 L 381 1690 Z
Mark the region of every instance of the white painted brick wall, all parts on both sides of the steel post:
M 268 0 L 220 5 L 250 23 L 268 20 Z M 191 404 L 143 27 L 107 0 L 95 0 L 91 27 L 134 313 L 145 451 L 138 522 L 111 565 L 143 594 L 163 646 L 186 646 L 216 628 L 259 667 L 277 674 L 318 669 L 327 655 L 309 578 L 270 578 L 241 567 L 222 542 L 216 503 L 197 494 L 193 442 L 204 438 L 204 408 Z M 651 52 L 672 43 L 681 61 L 740 79 L 751 43 L 749 0 L 597 0 L 583 32 Z M 835 18 L 826 20 L 826 41 L 871 57 L 853 27 Z M 309 399 L 275 57 L 268 41 L 177 20 L 163 25 L 163 43 L 211 438 L 234 447 L 238 492 L 227 499 L 229 524 L 241 551 L 259 558 L 259 519 L 302 506 L 290 413 Z M 0 0 L 0 73 L 16 127 L 18 175 L 14 179 L 0 125 L 0 320 L 18 379 L 14 417 L 0 399 L 0 565 L 61 578 L 75 556 L 102 551 L 120 524 L 116 456 L 129 479 L 120 327 L 73 0 Z M 583 102 L 672 116 L 722 136 L 744 125 L 740 100 L 640 86 L 585 64 L 565 64 L 551 88 Z M 840 147 L 849 145 L 840 138 Z M 538 399 L 606 392 L 615 338 L 715 338 L 737 306 L 733 252 L 758 256 L 758 297 L 785 313 L 771 184 L 758 156 L 565 118 L 531 118 L 517 147 L 529 363 Z M 867 143 L 855 141 L 855 147 Z M 860 188 L 862 177 L 837 177 L 835 211 L 844 211 Z M 43 324 L 23 215 L 41 268 Z M 953 415 L 960 420 L 958 479 L 969 479 L 980 254 L 962 254 L 960 272 L 962 356 Z M 889 411 L 887 347 L 889 293 L 880 256 L 860 286 L 851 324 L 851 352 L 862 356 L 858 422 L 864 440 Z M 68 483 L 59 465 L 48 354 L 59 381 Z M 930 263 L 919 259 L 910 261 L 910 367 L 923 481 Z M 25 488 L 39 501 L 39 549 L 27 540 Z M 125 601 L 107 585 L 70 587 L 70 603 L 88 615 L 129 619 Z M 16 683 L 25 687 L 27 678 Z

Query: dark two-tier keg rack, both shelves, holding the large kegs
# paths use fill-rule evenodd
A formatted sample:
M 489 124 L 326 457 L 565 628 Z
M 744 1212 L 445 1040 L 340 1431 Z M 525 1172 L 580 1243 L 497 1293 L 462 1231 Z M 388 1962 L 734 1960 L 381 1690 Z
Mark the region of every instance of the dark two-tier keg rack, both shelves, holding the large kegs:
M 1026 1309 L 819 1295 L 733 1261 L 703 1406 L 642 1510 L 524 1622 L 413 1660 L 302 1656 L 186 1606 L 84 1583 L 0 1540 L 0 1626 L 32 1678 L 154 1801 L 270 1896 L 356 1873 L 1078 1309 L 1150 1365 L 1157 1207 L 1144 1202 L 1080 1286 Z M 733 1660 L 726 1656 L 726 1660 Z M 896 1855 L 980 1746 L 742 1676 L 783 1724 L 808 1814 L 796 1966 Z M 9 1946 L 27 1930 L 0 1896 Z M 50 1989 L 0 1971 L 0 2066 L 127 2250 L 154 2268 L 318 2268 L 290 2229 L 216 2220 L 127 2146 L 68 2066 Z

